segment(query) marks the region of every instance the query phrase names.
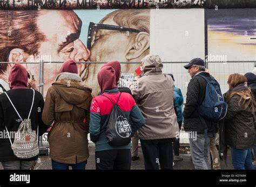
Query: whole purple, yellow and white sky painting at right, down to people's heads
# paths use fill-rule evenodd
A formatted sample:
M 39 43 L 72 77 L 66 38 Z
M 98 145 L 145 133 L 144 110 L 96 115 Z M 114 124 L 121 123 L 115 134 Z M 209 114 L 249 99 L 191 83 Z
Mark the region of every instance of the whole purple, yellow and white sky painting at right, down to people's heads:
M 256 9 L 207 10 L 208 57 L 222 91 L 232 73 L 251 72 L 256 62 Z

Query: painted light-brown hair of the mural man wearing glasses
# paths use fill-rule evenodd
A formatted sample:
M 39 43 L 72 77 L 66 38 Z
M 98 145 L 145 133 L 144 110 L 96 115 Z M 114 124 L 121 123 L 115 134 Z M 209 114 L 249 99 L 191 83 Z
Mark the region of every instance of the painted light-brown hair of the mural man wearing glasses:
M 112 18 L 118 26 L 136 28 L 150 34 L 150 10 L 116 10 L 106 15 L 99 24 Z

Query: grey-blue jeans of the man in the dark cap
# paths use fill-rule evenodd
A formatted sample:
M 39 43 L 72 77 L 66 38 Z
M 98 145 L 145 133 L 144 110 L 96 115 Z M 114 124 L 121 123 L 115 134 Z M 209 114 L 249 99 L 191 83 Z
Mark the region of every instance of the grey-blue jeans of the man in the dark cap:
M 210 138 L 205 138 L 204 134 L 197 134 L 190 140 L 190 152 L 195 169 L 211 169 L 208 161 L 208 150 L 210 147 Z

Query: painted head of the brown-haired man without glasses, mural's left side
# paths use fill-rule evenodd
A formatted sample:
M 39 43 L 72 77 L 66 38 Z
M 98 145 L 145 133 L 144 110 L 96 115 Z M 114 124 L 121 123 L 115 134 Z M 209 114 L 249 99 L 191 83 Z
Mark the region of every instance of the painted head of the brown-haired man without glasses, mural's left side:
M 83 42 L 79 39 L 82 21 L 72 10 L 41 10 L 37 12 L 23 11 L 23 12 L 10 12 L 12 14 L 18 14 L 17 18 L 14 18 L 11 22 L 12 43 L 9 45 L 12 47 L 8 54 L 9 62 L 64 62 L 72 59 L 75 61 L 87 61 L 90 57 L 90 51 L 85 47 Z M 6 12 L 3 12 L 5 15 Z M 21 16 L 24 15 L 24 16 Z M 37 16 L 33 17 L 33 14 Z M 24 27 L 24 22 L 30 23 L 27 17 L 30 16 L 30 20 L 35 18 L 33 26 L 27 24 Z M 4 19 L 4 17 L 2 17 Z M 32 21 L 31 21 L 32 22 Z M 31 27 L 30 27 L 31 26 Z M 35 33 L 38 36 L 38 47 L 33 52 L 28 52 L 26 48 L 26 40 L 19 38 L 14 40 L 14 37 L 18 37 L 18 33 L 26 32 L 28 38 L 26 40 L 33 41 Z M 24 31 L 25 30 L 25 31 Z M 34 34 L 29 34 L 34 32 Z M 40 34 L 39 34 L 40 33 Z M 24 38 L 24 37 L 23 37 Z M 17 42 L 17 44 L 15 44 Z M 8 48 L 9 46 L 6 46 Z M 31 44 L 29 45 L 31 48 Z M 30 69 L 33 75 L 35 75 L 36 81 L 38 81 L 39 65 L 24 63 L 27 69 Z M 62 63 L 45 63 L 44 64 L 44 90 L 48 90 L 50 85 L 55 81 L 59 68 Z M 88 75 L 87 64 L 78 64 L 78 74 L 86 80 Z M 10 68 L 10 66 L 8 67 Z M 7 74 L 5 79 L 8 78 L 9 69 L 5 71 Z M 38 82 L 37 82 L 38 83 Z M 46 91 L 44 92 L 46 94 Z M 45 95 L 44 94 L 44 95 Z

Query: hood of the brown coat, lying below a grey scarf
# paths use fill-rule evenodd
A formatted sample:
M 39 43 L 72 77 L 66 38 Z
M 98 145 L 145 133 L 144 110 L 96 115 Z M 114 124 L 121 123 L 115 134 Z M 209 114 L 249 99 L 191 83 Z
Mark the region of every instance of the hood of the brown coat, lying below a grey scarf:
M 65 102 L 73 105 L 83 104 L 90 97 L 92 91 L 83 83 L 73 83 L 69 80 L 57 81 L 52 84 L 52 87 Z

